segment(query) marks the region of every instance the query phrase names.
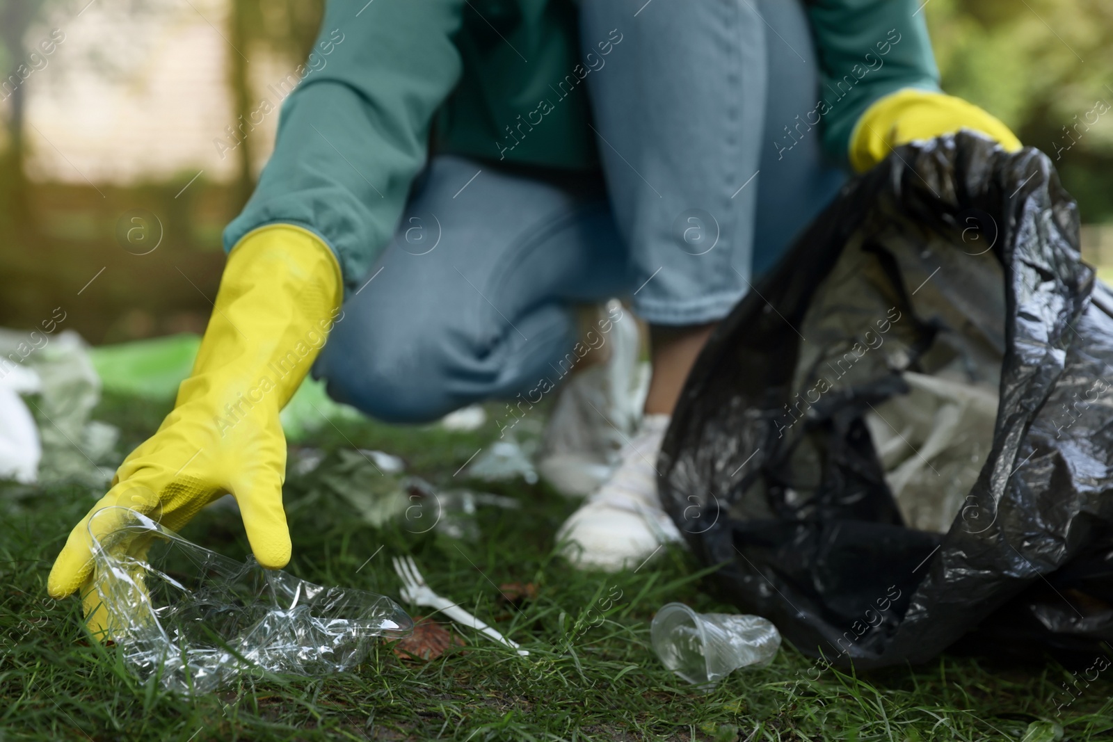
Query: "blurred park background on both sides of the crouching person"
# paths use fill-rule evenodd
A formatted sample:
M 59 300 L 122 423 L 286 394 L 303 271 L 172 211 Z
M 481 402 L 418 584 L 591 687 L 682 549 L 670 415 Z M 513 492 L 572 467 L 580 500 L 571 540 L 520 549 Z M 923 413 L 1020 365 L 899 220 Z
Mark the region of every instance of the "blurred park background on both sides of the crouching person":
M 0 0 L 0 326 L 201 332 L 323 0 Z M 944 88 L 1055 161 L 1113 276 L 1113 4 L 928 0 Z M 47 51 L 49 49 L 49 52 Z M 14 77 L 11 77 L 14 76 Z M 157 249 L 154 249 L 157 246 Z M 53 315 L 58 316 L 58 315 Z

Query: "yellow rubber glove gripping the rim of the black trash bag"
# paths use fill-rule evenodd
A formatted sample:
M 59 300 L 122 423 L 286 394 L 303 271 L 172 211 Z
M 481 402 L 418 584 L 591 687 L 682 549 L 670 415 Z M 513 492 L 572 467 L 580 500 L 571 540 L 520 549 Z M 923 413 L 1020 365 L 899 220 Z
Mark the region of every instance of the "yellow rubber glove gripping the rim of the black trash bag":
M 865 172 L 895 147 L 959 129 L 979 131 L 1009 152 L 1021 148 L 1021 140 L 1008 127 L 974 103 L 942 92 L 905 88 L 875 101 L 855 123 L 850 132 L 850 166 Z

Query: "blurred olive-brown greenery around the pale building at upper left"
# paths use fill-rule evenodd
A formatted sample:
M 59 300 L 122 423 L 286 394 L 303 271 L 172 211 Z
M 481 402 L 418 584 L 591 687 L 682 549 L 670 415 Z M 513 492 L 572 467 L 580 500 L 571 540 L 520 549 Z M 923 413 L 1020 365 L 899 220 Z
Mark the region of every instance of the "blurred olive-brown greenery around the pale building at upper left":
M 171 22 L 174 0 L 96 0 L 97 11 Z M 89 0 L 0 0 L 0 85 L 24 63 L 45 27 L 67 24 Z M 237 49 L 266 51 L 294 67 L 308 55 L 324 0 L 229 0 L 220 34 Z M 196 8 L 187 12 L 200 12 Z M 204 18 L 204 16 L 203 16 Z M 67 48 L 67 51 L 71 47 Z M 111 44 L 69 63 L 108 79 L 127 79 Z M 244 58 L 228 55 L 227 91 L 234 113 L 258 105 Z M 28 96 L 37 80 L 0 91 L 0 326 L 35 327 L 53 307 L 66 329 L 93 344 L 201 332 L 211 310 L 224 257 L 220 233 L 250 195 L 256 140 L 237 147 L 237 177 L 218 184 L 196 171 L 130 186 L 36 182 L 27 177 Z M 184 191 L 187 184 L 191 184 Z M 157 218 L 161 241 L 150 255 L 121 248 L 120 219 L 142 209 Z M 149 220 L 156 224 L 155 219 Z

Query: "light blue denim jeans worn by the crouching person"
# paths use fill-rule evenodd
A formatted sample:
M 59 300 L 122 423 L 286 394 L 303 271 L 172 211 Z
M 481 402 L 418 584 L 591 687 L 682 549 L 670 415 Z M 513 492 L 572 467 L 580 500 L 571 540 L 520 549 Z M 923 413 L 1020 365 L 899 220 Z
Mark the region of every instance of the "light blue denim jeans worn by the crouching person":
M 838 190 L 797 126 L 819 87 L 797 0 L 584 0 L 580 27 L 623 36 L 587 78 L 603 178 L 434 157 L 314 367 L 335 399 L 424 422 L 544 388 L 577 303 L 721 319 Z

